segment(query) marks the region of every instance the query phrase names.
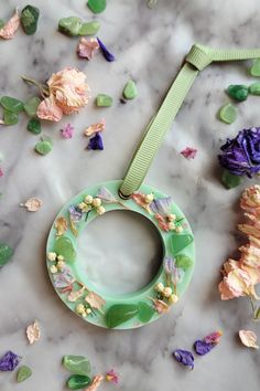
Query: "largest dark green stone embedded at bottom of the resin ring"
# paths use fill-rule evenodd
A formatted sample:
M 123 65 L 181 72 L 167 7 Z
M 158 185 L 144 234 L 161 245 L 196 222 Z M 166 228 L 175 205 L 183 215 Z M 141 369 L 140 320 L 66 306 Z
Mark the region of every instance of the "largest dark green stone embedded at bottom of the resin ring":
M 115 304 L 106 314 L 108 328 L 115 328 L 124 321 L 133 318 L 139 313 L 136 304 Z

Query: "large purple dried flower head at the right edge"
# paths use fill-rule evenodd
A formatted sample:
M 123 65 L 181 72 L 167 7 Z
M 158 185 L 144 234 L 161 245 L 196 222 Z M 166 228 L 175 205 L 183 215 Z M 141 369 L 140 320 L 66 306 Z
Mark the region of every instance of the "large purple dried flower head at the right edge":
M 243 129 L 220 147 L 220 165 L 236 176 L 249 178 L 260 171 L 260 127 Z

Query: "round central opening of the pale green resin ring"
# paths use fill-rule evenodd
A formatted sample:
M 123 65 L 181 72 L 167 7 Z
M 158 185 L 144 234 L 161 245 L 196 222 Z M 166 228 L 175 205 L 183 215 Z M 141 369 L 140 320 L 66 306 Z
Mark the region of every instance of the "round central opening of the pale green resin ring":
M 153 281 L 163 253 L 160 232 L 148 219 L 132 211 L 110 211 L 79 235 L 77 270 L 100 294 L 130 294 Z

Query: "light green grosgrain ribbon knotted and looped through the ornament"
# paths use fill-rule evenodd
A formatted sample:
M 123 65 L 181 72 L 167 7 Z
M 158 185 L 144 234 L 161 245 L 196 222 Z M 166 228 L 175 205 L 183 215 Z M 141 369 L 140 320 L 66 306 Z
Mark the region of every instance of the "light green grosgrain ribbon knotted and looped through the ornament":
M 122 186 L 119 189 L 121 198 L 130 198 L 140 188 L 164 135 L 171 127 L 198 72 L 203 71 L 212 62 L 258 57 L 260 57 L 260 49 L 217 50 L 201 44 L 192 46 L 183 67 L 170 87 L 156 115 L 148 125 L 141 142 L 133 154 Z

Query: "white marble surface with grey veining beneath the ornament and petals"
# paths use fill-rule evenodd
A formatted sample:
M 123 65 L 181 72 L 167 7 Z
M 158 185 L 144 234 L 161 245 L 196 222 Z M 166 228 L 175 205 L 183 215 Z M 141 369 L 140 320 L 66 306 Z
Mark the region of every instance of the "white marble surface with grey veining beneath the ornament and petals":
M 63 355 L 76 353 L 88 356 L 97 372 L 118 370 L 121 373 L 118 390 L 257 391 L 260 353 L 242 348 L 236 335 L 240 328 L 249 328 L 260 337 L 259 325 L 250 321 L 245 300 L 221 303 L 217 292 L 220 265 L 238 246 L 236 223 L 241 215 L 238 199 L 243 186 L 234 191 L 223 189 L 216 156 L 227 136 L 242 127 L 259 126 L 259 98 L 250 97 L 239 105 L 235 125 L 226 126 L 215 115 L 226 99 L 224 89 L 228 84 L 249 82 L 247 63 L 214 65 L 199 75 L 147 178 L 150 184 L 174 197 L 195 232 L 197 266 L 180 304 L 148 327 L 109 331 L 88 326 L 74 316 L 50 284 L 44 247 L 56 212 L 86 186 L 122 178 L 143 127 L 159 107 L 191 45 L 194 42 L 219 47 L 259 45 L 257 0 L 159 0 L 153 10 L 147 8 L 144 0 L 108 2 L 106 12 L 98 17 L 99 35 L 116 53 L 117 61 L 112 64 L 101 56 L 89 63 L 79 61 L 75 55 L 77 40 L 56 32 L 61 17 L 75 14 L 91 19 L 85 0 L 34 0 L 42 11 L 36 34 L 30 38 L 20 30 L 13 41 L 0 42 L 1 95 L 24 99 L 33 94 L 33 88 L 20 81 L 21 74 L 44 81 L 52 72 L 73 65 L 86 72 L 93 97 L 100 92 L 115 97 L 115 105 L 109 109 L 96 109 L 93 99 L 79 116 L 69 118 L 76 128 L 72 140 L 61 138 L 61 124 L 44 125 L 44 133 L 52 135 L 55 145 L 46 157 L 34 154 L 37 137 L 26 131 L 25 117 L 15 127 L 0 129 L 0 151 L 6 156 L 1 163 L 6 176 L 0 178 L 3 193 L 0 241 L 15 249 L 12 262 L 0 271 L 0 355 L 12 349 L 34 371 L 29 381 L 19 385 L 14 373 L 0 373 L 0 390 L 63 390 L 67 372 L 61 367 L 61 359 Z M 26 1 L 1 0 L 1 17 L 10 17 L 15 6 L 24 4 Z M 121 105 L 120 93 L 129 76 L 138 83 L 139 97 Z M 101 117 L 107 120 L 105 151 L 87 151 L 83 129 Z M 187 145 L 198 149 L 194 161 L 180 156 Z M 20 202 L 32 196 L 44 201 L 35 214 L 19 208 Z M 88 249 L 97 260 L 102 256 L 102 250 L 108 252 L 107 267 L 113 267 L 109 278 L 113 278 L 119 292 L 130 289 L 129 279 L 123 285 L 119 273 L 121 256 L 126 267 L 133 263 L 130 273 L 137 287 L 150 275 L 142 267 L 143 275 L 138 274 L 142 281 L 136 279 L 139 260 L 149 266 L 148 258 L 160 251 L 154 233 L 143 225 L 131 237 L 137 243 L 137 255 L 131 260 L 132 254 L 126 254 L 123 221 L 136 230 L 134 221 L 126 216 L 119 221 L 117 239 L 108 224 L 116 228 L 117 222 L 107 221 L 105 226 L 93 229 Z M 97 235 L 101 231 L 97 253 Z M 147 241 L 145 247 L 138 246 L 139 237 L 140 243 Z M 113 251 L 109 250 L 108 241 Z M 104 273 L 102 278 L 107 278 Z M 31 347 L 24 329 L 35 318 L 40 320 L 42 338 Z M 224 330 L 221 344 L 207 357 L 197 358 L 194 371 L 181 368 L 172 359 L 173 349 L 191 349 L 196 338 L 218 328 Z M 111 384 L 100 388 L 112 389 Z

